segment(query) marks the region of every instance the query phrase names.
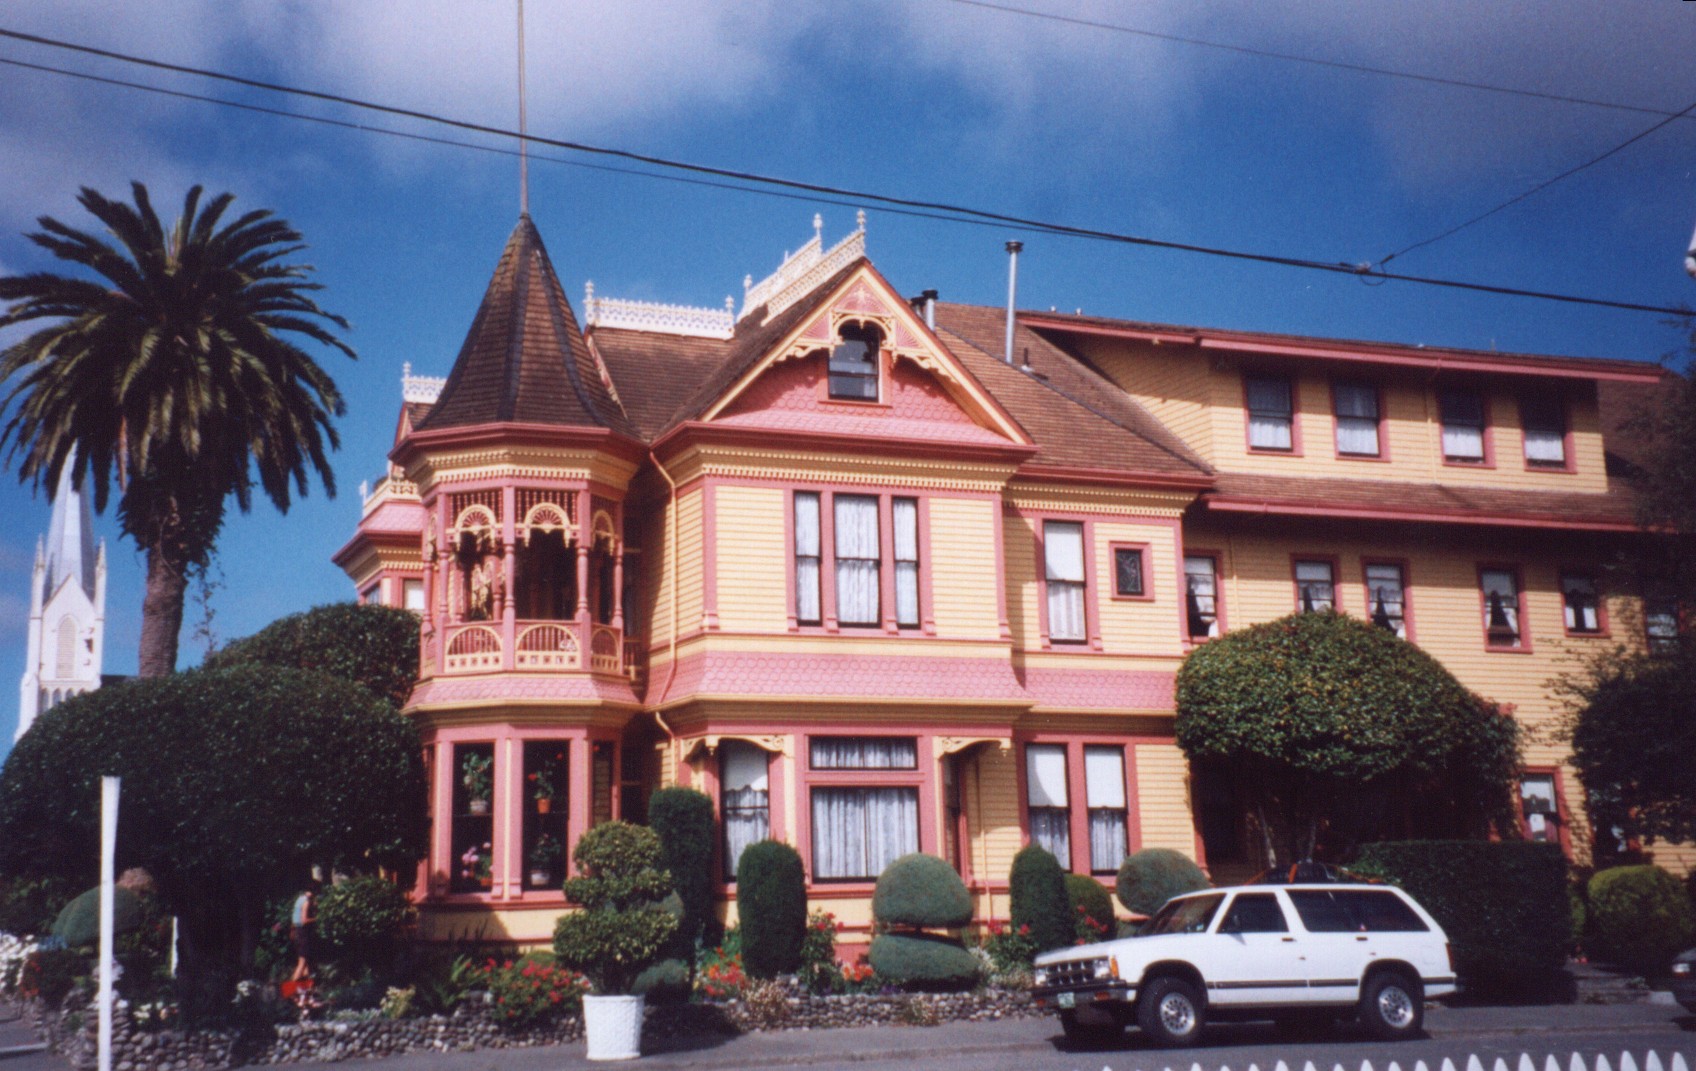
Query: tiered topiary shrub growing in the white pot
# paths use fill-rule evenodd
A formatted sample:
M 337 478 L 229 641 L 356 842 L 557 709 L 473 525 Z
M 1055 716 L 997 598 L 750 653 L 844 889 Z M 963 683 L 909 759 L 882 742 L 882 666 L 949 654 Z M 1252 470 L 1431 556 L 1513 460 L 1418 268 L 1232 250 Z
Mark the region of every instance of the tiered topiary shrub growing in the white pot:
M 565 898 L 583 910 L 555 925 L 555 957 L 589 976 L 597 993 L 629 993 L 677 932 L 661 906 L 672 878 L 658 866 L 660 838 L 646 827 L 602 821 L 572 857 L 582 872 L 565 883 Z

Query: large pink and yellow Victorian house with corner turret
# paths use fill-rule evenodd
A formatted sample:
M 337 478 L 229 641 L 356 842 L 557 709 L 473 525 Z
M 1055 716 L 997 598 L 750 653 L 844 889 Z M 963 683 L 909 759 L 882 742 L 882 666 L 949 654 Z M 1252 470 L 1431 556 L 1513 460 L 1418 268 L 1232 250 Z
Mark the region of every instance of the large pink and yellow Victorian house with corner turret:
M 1007 348 L 1011 338 L 1011 350 Z M 1007 360 L 1011 356 L 1011 360 Z M 1036 842 L 1257 869 L 1172 738 L 1194 645 L 1296 609 L 1392 628 L 1548 726 L 1564 655 L 1676 630 L 1613 597 L 1604 428 L 1660 372 L 904 299 L 860 229 L 741 311 L 599 297 L 522 217 L 444 378 L 404 382 L 336 555 L 422 616 L 427 932 L 551 934 L 572 845 L 656 786 L 870 923 L 897 855 L 1007 913 Z M 1587 845 L 1547 735 L 1525 833 Z M 1664 862 L 1688 866 L 1681 850 Z

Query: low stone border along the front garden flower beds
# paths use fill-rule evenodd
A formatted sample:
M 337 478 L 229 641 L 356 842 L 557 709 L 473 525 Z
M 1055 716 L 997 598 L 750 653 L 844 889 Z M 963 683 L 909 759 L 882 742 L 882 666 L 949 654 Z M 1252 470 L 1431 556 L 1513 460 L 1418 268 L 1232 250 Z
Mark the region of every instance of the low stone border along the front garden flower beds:
M 819 1030 L 870 1025 L 934 1025 L 1045 1015 L 1029 993 L 880 993 L 812 996 L 792 984 L 765 1000 L 651 1005 L 643 1023 L 648 1040 L 734 1035 L 756 1030 Z M 3 1007 L 3 1001 L 0 1001 Z M 49 1049 L 76 1071 L 97 1064 L 98 1017 L 92 1003 L 66 998 L 58 1008 L 41 1001 L 14 1003 Z M 583 1035 L 580 1017 L 527 1029 L 505 1029 L 482 1007 L 461 1005 L 453 1015 L 410 1018 L 309 1020 L 243 1035 L 236 1030 L 149 1030 L 137 1027 L 122 1001 L 112 1015 L 114 1071 L 224 1071 L 239 1066 L 380 1059 L 402 1052 L 471 1052 L 560 1046 Z

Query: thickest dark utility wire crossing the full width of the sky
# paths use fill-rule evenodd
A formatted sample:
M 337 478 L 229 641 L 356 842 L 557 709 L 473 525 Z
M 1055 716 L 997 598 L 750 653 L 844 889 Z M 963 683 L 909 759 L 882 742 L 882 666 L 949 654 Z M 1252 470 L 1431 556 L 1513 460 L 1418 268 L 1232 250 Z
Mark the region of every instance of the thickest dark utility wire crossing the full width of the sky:
M 387 115 L 402 115 L 402 117 L 407 117 L 407 119 L 419 119 L 422 122 L 441 124 L 441 126 L 448 126 L 448 127 L 455 127 L 455 129 L 461 129 L 461 131 L 471 131 L 471 132 L 478 132 L 478 134 L 494 134 L 494 136 L 499 136 L 499 137 L 512 137 L 512 139 L 521 137 L 516 131 L 509 131 L 509 129 L 504 129 L 504 127 L 495 127 L 495 126 L 487 126 L 487 124 L 478 124 L 478 122 L 468 122 L 468 121 L 463 121 L 463 119 L 449 119 L 446 115 L 436 115 L 436 114 L 431 114 L 431 112 L 419 112 L 419 110 L 414 110 L 414 109 L 402 109 L 402 107 L 387 105 L 387 104 L 375 104 L 375 102 L 370 102 L 370 100 L 360 100 L 356 97 L 343 97 L 343 95 L 338 95 L 338 93 L 324 93 L 324 92 L 319 92 L 319 90 L 307 90 L 307 88 L 298 88 L 298 87 L 278 85 L 278 83 L 271 83 L 271 81 L 259 81 L 259 80 L 244 78 L 244 76 L 239 76 L 239 75 L 227 75 L 224 71 L 212 71 L 212 70 L 204 70 L 204 68 L 183 66 L 183 64 L 176 64 L 176 63 L 165 63 L 161 59 L 148 59 L 148 58 L 142 58 L 142 56 L 131 56 L 131 54 L 126 54 L 126 53 L 115 53 L 115 51 L 110 51 L 110 49 L 100 49 L 100 48 L 93 48 L 93 46 L 86 46 L 86 44 L 75 44 L 75 42 L 70 42 L 70 41 L 58 41 L 58 39 L 53 39 L 53 37 L 41 37 L 37 34 L 24 34 L 24 32 L 3 29 L 3 27 L 0 27 L 0 37 L 10 37 L 10 39 L 15 39 L 15 41 L 27 41 L 27 42 L 42 44 L 42 46 L 47 46 L 47 48 L 58 48 L 58 49 L 83 53 L 83 54 L 90 54 L 90 56 L 100 56 L 100 58 L 105 58 L 105 59 L 117 59 L 120 63 L 132 63 L 132 64 L 146 66 L 146 68 L 153 68 L 153 70 L 173 71 L 173 73 L 181 73 L 181 75 L 195 75 L 195 76 L 200 76 L 200 78 L 212 78 L 212 80 L 217 80 L 217 81 L 226 81 L 226 83 L 231 83 L 231 85 L 243 85 L 243 87 L 248 87 L 248 88 L 268 90 L 268 92 L 275 92 L 275 93 L 287 93 L 287 95 L 293 95 L 293 97 L 305 97 L 309 100 L 324 100 L 324 102 L 329 102 L 329 104 L 341 104 L 341 105 L 348 105 L 348 107 L 353 107 L 353 109 L 371 110 L 371 112 L 380 112 L 380 114 L 387 114 Z M 1304 268 L 1304 270 L 1309 270 L 1309 272 L 1328 272 L 1328 273 L 1333 273 L 1333 275 L 1355 275 L 1355 277 L 1367 277 L 1367 278 L 1374 278 L 1374 280 L 1411 282 L 1411 283 L 1420 283 L 1420 285 L 1428 285 L 1428 287 L 1445 287 L 1445 289 L 1452 289 L 1452 290 L 1470 290 L 1470 292 L 1477 292 L 1477 294 L 1499 294 L 1499 295 L 1508 295 L 1508 297 L 1533 297 L 1533 299 L 1555 300 L 1555 302 L 1565 302 L 1565 304 L 1576 304 L 1576 306 L 1593 306 L 1593 307 L 1603 307 L 1603 309 L 1623 309 L 1623 311 L 1630 311 L 1630 312 L 1655 312 L 1655 314 L 1660 314 L 1660 316 L 1686 316 L 1689 312 L 1688 309 L 1676 309 L 1676 307 L 1669 307 L 1669 306 L 1649 306 L 1649 304 L 1642 304 L 1642 302 L 1610 300 L 1610 299 L 1601 299 L 1601 297 L 1582 297 L 1582 295 L 1574 295 L 1574 294 L 1554 294 L 1554 292 L 1547 292 L 1547 290 L 1528 290 L 1528 289 L 1521 289 L 1521 287 L 1503 287 L 1503 285 L 1492 285 L 1492 283 L 1470 283 L 1470 282 L 1460 282 L 1460 280 L 1450 280 L 1450 278 L 1437 278 L 1437 277 L 1425 277 L 1425 275 L 1404 275 L 1404 273 L 1396 273 L 1396 272 L 1372 270 L 1370 265 L 1350 265 L 1350 263 L 1343 263 L 1343 261 L 1319 261 L 1319 260 L 1306 260 L 1306 258 L 1299 258 L 1299 256 L 1277 256 L 1277 255 L 1270 255 L 1270 253 L 1247 253 L 1247 251 L 1241 251 L 1241 250 L 1226 250 L 1226 248 L 1219 248 L 1219 246 L 1202 246 L 1202 244 L 1196 244 L 1196 243 L 1180 243 L 1180 241 L 1165 241 L 1165 239 L 1157 239 L 1157 238 L 1141 238 L 1141 236 L 1135 236 L 1135 234 L 1121 234 L 1121 233 L 1116 233 L 1116 231 L 1101 231 L 1101 229 L 1096 229 L 1096 227 L 1077 227 L 1077 226 L 1070 226 L 1070 224 L 1048 222 L 1048 221 L 1031 219 L 1031 217 L 1024 217 L 1024 216 L 1011 216 L 1011 214 L 1004 214 L 1004 212 L 990 212 L 990 210 L 985 210 L 985 209 L 972 209 L 972 207 L 967 207 L 967 205 L 953 205 L 953 204 L 946 204 L 946 202 L 918 200 L 918 199 L 907 199 L 907 197 L 894 197 L 894 195 L 887 195 L 887 193 L 872 193 L 872 192 L 867 192 L 867 190 L 853 190 L 853 188 L 846 188 L 846 187 L 833 187 L 833 185 L 823 185 L 823 183 L 812 183 L 812 182 L 801 182 L 801 180 L 794 180 L 794 178 L 775 178 L 775 177 L 760 175 L 760 173 L 755 173 L 755 171 L 738 171 L 738 170 L 731 170 L 731 168 L 716 168 L 716 166 L 700 165 L 700 163 L 687 163 L 687 161 L 678 161 L 678 160 L 668 160 L 668 158 L 663 158 L 663 156 L 651 156 L 651 154 L 644 154 L 644 153 L 633 153 L 629 149 L 612 149 L 612 148 L 604 148 L 604 146 L 583 144 L 583 143 L 577 143 L 577 141 L 563 141 L 563 139 L 558 139 L 558 137 L 543 137 L 539 134 L 527 134 L 527 136 L 524 136 L 524 139 L 529 141 L 529 143 L 534 143 L 534 144 L 546 144 L 546 146 L 553 146 L 553 148 L 560 148 L 560 149 L 570 149 L 570 151 L 587 153 L 587 154 L 602 156 L 602 158 L 628 160 L 628 161 L 633 161 L 633 163 L 643 163 L 643 165 L 658 166 L 658 168 L 680 170 L 680 171 L 687 171 L 687 173 L 694 173 L 694 175 L 712 175 L 716 178 L 728 178 L 728 180 L 743 182 L 743 183 L 770 185 L 770 187 L 778 187 L 778 188 L 785 188 L 785 190 L 801 190 L 801 192 L 806 192 L 806 193 L 816 193 L 816 195 L 826 195 L 826 197 L 843 197 L 843 199 L 853 199 L 853 200 L 860 200 L 860 202 L 875 202 L 875 204 L 880 204 L 880 205 L 894 205 L 894 207 L 899 207 L 899 209 L 919 209 L 919 210 L 929 210 L 929 212 L 943 212 L 943 214 L 948 214 L 950 217 L 968 217 L 968 219 L 975 219 L 975 221 L 989 221 L 989 222 L 996 222 L 996 224 L 1006 224 L 1006 226 L 1013 226 L 1013 227 L 1024 227 L 1024 229 L 1041 231 L 1041 233 L 1048 233 L 1048 234 L 1065 234 L 1065 236 L 1074 236 L 1074 238 L 1092 238 L 1092 239 L 1097 239 L 1097 241 L 1111 241 L 1111 243 L 1131 244 L 1131 246 L 1143 246 L 1143 248 L 1153 248 L 1153 250 L 1175 250 L 1175 251 L 1182 251 L 1182 253 L 1201 253 L 1201 255 L 1208 255 L 1208 256 L 1221 256 L 1221 258 L 1228 258 L 1228 260 L 1240 260 L 1240 261 L 1250 261 L 1250 263 L 1279 265 L 1279 266 L 1286 266 L 1286 268 Z

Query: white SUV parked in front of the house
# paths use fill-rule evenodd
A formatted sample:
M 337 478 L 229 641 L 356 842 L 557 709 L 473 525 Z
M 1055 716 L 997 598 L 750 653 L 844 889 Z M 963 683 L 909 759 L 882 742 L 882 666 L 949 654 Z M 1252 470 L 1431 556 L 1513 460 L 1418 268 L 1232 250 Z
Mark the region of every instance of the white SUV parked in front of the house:
M 1036 957 L 1038 1007 L 1068 1039 L 1135 1022 L 1157 1044 L 1192 1044 L 1211 1017 L 1335 1020 L 1413 1037 L 1425 998 L 1455 991 L 1448 939 L 1411 896 L 1382 884 L 1253 884 L 1175 896 L 1135 937 Z

